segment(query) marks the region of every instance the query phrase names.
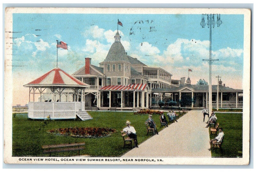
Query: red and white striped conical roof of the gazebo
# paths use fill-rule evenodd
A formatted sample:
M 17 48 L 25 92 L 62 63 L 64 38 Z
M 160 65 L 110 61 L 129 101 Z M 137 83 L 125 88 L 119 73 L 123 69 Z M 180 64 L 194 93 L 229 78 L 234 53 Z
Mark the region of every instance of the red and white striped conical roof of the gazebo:
M 80 80 L 72 77 L 60 68 L 54 68 L 51 71 L 45 73 L 41 77 L 29 82 L 24 87 L 84 87 L 90 88 L 90 85 L 81 82 Z

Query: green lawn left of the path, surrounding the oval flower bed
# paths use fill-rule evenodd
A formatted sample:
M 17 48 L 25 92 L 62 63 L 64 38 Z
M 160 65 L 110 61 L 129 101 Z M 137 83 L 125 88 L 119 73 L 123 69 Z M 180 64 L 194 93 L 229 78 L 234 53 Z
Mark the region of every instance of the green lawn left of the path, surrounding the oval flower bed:
M 131 149 L 123 148 L 124 141 L 120 133 L 127 120 L 134 126 L 139 144 L 152 136 L 152 134 L 146 135 L 144 123 L 148 118 L 147 115 L 134 115 L 133 112 L 89 113 L 93 120 L 51 120 L 44 127 L 42 127 L 43 120 L 31 120 L 27 115 L 16 114 L 15 117 L 13 116 L 13 156 L 49 156 L 42 154 L 42 145 L 85 142 L 86 149 L 80 151 L 81 155 L 119 157 Z M 153 115 L 153 119 L 158 126 L 158 132 L 161 131 L 164 127 L 160 128 L 159 115 Z M 47 133 L 51 129 L 66 127 L 108 127 L 116 129 L 117 132 L 105 138 L 77 138 Z M 73 151 L 54 153 L 51 156 L 76 156 L 77 154 Z

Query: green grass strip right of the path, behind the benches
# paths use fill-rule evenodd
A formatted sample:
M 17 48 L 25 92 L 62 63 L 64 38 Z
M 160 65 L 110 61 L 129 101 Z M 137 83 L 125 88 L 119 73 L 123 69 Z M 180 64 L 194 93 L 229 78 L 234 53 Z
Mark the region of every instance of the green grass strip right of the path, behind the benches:
M 235 158 L 238 156 L 238 150 L 242 150 L 242 114 L 237 113 L 216 113 L 217 123 L 223 128 L 225 134 L 222 144 L 223 153 L 218 149 L 214 149 L 211 153 L 212 157 L 229 157 Z M 248 131 L 249 132 L 249 131 Z M 210 133 L 210 132 L 209 132 Z M 219 133 L 218 133 L 219 134 Z M 210 136 L 211 139 L 216 136 Z

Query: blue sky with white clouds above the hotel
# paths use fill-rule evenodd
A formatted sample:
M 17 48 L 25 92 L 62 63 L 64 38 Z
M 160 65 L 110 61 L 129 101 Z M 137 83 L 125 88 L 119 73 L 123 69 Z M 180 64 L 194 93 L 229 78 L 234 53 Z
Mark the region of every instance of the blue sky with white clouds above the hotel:
M 212 28 L 212 84 L 220 76 L 227 87 L 242 89 L 243 15 L 221 14 L 222 24 Z M 28 103 L 23 85 L 56 67 L 69 74 L 104 61 L 114 42 L 117 27 L 127 55 L 144 64 L 160 67 L 172 79 L 189 77 L 209 81 L 209 31 L 200 25 L 201 14 L 13 14 L 13 105 Z M 122 26 L 117 25 L 121 21 Z M 205 16 L 207 21 L 207 17 Z M 217 16 L 215 16 L 217 21 Z

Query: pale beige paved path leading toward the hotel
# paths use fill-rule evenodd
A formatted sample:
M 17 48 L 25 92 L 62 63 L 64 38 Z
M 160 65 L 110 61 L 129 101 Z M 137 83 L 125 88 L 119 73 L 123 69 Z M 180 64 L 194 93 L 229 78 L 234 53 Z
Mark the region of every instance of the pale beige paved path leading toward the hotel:
M 207 117 L 207 116 L 206 116 Z M 158 135 L 147 139 L 122 157 L 211 157 L 209 128 L 202 112 L 186 113 Z

